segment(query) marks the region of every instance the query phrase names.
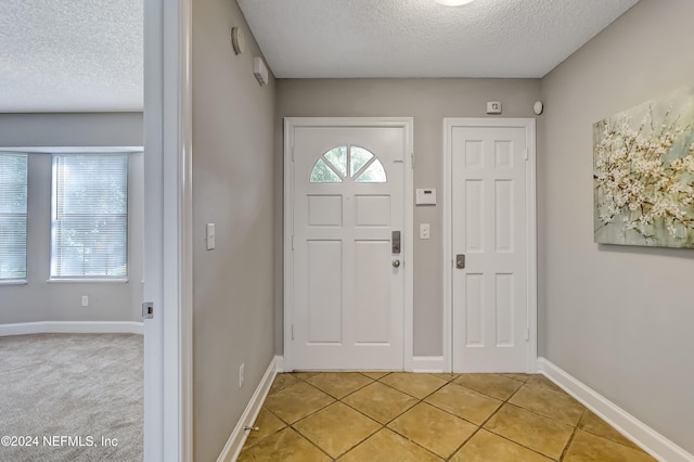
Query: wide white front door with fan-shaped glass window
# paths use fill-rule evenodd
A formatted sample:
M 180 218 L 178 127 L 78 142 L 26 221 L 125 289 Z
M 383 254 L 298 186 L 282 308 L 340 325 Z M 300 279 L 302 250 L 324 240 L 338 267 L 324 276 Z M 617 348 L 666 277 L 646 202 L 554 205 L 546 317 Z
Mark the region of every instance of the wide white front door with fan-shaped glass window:
M 403 368 L 406 134 L 292 128 L 293 369 Z

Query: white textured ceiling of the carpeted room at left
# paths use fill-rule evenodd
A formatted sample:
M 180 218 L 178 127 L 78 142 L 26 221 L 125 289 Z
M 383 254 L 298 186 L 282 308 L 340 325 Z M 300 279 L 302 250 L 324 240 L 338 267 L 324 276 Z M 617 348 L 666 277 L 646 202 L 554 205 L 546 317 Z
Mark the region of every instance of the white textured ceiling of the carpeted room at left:
M 142 111 L 143 0 L 0 0 L 0 112 Z

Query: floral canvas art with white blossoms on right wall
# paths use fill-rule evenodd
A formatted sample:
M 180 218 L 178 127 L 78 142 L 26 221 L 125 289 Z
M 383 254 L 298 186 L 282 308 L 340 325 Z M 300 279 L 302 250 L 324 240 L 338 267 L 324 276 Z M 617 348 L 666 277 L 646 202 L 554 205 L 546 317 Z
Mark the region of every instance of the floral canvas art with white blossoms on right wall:
M 593 125 L 594 239 L 694 248 L 694 88 Z

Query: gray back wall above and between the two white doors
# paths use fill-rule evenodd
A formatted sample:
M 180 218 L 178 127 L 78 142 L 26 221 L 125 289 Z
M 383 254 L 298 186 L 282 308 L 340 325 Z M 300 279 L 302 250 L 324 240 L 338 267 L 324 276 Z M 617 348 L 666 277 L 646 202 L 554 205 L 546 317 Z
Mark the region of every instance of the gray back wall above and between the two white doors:
M 283 117 L 414 117 L 414 188 L 436 188 L 442 197 L 444 117 L 487 117 L 487 101 L 501 101 L 503 117 L 535 117 L 532 103 L 539 99 L 537 79 L 280 79 L 277 123 L 281 127 Z M 282 158 L 281 129 L 275 141 Z M 279 202 L 279 222 L 281 210 Z M 414 208 L 414 229 L 430 223 L 432 235 L 421 241 L 416 234 L 414 240 L 415 356 L 442 355 L 442 220 L 440 198 L 435 207 Z M 275 290 L 281 288 L 280 279 Z M 275 349 L 281 352 L 281 304 L 275 323 Z

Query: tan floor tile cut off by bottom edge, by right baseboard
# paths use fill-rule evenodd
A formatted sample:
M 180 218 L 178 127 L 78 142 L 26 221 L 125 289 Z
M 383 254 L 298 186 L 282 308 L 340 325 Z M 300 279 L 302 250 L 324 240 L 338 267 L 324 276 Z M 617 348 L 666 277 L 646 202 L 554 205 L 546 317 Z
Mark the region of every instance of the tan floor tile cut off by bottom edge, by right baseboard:
M 577 429 L 563 459 L 565 462 L 653 462 L 651 455 L 606 438 Z

